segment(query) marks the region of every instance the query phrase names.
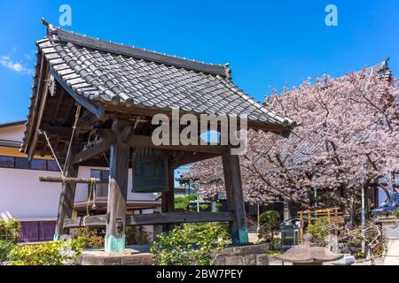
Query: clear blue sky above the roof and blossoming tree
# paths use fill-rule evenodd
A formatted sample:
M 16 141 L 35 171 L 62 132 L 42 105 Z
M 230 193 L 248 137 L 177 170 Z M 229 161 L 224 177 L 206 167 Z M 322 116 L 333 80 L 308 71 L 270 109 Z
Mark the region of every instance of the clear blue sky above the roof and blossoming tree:
M 59 25 L 72 7 L 73 30 L 210 63 L 231 64 L 233 80 L 262 100 L 270 88 L 323 73 L 345 74 L 390 56 L 399 72 L 399 1 L 2 1 L 0 123 L 25 119 L 40 19 Z M 325 26 L 325 6 L 338 26 Z

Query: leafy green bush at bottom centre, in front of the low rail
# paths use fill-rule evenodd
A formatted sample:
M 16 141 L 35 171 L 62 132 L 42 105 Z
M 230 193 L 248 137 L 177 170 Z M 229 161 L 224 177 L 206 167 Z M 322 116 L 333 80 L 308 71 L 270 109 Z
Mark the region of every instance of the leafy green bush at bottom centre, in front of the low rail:
M 160 233 L 150 249 L 155 264 L 159 265 L 212 265 L 215 250 L 227 245 L 230 235 L 223 226 L 184 226 L 169 233 Z M 222 241 L 218 241 L 222 238 Z

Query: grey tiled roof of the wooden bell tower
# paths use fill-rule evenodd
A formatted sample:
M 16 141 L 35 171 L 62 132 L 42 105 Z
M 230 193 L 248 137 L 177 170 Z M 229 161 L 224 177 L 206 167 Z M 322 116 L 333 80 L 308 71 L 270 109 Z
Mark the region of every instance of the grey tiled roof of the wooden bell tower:
M 37 42 L 51 67 L 75 93 L 95 103 L 195 114 L 247 115 L 266 125 L 295 126 L 247 96 L 229 65 L 212 65 L 73 34 L 49 25 Z

